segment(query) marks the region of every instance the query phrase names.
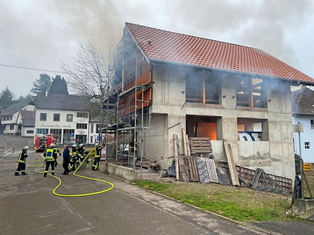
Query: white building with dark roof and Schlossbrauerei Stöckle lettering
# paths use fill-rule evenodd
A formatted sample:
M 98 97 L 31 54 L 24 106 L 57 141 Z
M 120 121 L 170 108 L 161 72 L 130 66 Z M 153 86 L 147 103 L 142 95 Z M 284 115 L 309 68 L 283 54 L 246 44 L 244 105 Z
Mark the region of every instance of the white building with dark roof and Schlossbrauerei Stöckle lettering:
M 89 99 L 81 95 L 37 95 L 35 134 L 53 134 L 59 143 L 89 143 Z

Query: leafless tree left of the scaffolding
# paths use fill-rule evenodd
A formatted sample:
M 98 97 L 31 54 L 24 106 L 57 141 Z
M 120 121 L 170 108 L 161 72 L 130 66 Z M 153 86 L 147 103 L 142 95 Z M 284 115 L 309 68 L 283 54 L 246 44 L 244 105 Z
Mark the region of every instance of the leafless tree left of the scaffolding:
M 71 94 L 86 95 L 92 104 L 90 113 L 99 117 L 100 126 L 108 123 L 109 114 L 103 110 L 104 95 L 110 93 L 112 80 L 112 58 L 116 40 L 107 36 L 105 47 L 97 47 L 93 42 L 78 42 L 74 63 L 69 65 L 62 62 L 61 70 L 67 73 L 66 81 Z

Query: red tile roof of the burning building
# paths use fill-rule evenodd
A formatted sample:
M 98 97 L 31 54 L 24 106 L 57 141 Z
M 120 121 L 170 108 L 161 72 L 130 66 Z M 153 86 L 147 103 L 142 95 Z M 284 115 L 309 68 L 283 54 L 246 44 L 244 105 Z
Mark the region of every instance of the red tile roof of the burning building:
M 252 48 L 126 23 L 148 59 L 274 76 L 314 83 L 314 79 L 266 52 Z M 148 43 L 151 41 L 151 44 Z

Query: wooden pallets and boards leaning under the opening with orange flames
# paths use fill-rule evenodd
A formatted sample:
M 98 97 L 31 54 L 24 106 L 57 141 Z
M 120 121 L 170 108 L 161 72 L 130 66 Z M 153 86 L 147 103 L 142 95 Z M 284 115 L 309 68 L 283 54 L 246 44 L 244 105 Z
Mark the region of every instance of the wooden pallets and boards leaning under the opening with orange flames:
M 182 129 L 183 154 L 180 153 L 178 135 L 173 135 L 175 147 L 176 179 L 183 182 L 196 181 L 201 183 L 219 183 L 215 163 L 213 159 L 191 156 L 191 150 L 195 153 L 212 152 L 209 138 L 190 138 Z M 201 155 L 202 156 L 202 155 Z

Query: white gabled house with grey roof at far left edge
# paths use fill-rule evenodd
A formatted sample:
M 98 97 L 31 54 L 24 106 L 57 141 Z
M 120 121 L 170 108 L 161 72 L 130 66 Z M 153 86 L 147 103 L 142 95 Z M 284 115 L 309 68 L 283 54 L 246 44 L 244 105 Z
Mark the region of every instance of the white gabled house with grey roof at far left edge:
M 22 117 L 21 111 L 34 111 L 33 101 L 24 101 L 12 104 L 1 112 L 1 125 L 4 135 L 21 135 Z

